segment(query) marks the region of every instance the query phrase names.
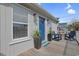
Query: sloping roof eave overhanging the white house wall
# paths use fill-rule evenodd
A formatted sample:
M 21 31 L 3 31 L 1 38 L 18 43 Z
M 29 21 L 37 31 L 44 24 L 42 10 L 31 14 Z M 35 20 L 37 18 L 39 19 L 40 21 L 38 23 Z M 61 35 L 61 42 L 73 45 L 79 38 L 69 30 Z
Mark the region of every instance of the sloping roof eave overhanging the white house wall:
M 34 4 L 34 3 L 20 3 L 21 5 L 34 10 L 37 13 L 42 14 L 43 16 L 47 17 L 48 19 L 51 19 L 54 22 L 58 22 L 57 18 L 55 18 L 54 16 L 52 16 L 51 14 L 49 14 L 46 10 L 44 10 L 41 6 Z

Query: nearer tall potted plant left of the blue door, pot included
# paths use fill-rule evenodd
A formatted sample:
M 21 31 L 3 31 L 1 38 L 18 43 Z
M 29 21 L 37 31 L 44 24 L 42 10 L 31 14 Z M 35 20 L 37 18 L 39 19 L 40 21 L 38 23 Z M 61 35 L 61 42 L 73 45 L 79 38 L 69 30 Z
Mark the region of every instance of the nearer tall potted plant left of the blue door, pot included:
M 41 40 L 40 40 L 40 34 L 38 30 L 34 31 L 33 38 L 34 38 L 34 48 L 36 49 L 41 48 Z

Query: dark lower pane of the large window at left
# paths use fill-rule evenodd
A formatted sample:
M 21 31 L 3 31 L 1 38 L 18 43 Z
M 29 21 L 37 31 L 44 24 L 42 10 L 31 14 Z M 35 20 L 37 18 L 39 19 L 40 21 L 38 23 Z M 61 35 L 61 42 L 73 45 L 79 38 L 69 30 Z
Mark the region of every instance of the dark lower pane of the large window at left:
M 13 23 L 13 38 L 21 38 L 27 36 L 27 24 Z

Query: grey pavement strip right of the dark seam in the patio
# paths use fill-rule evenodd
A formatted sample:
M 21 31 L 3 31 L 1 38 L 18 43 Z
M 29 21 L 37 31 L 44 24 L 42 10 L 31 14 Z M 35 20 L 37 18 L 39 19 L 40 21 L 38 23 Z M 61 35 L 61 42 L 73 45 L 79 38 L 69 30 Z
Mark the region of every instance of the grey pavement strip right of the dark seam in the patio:
M 79 46 L 76 41 L 67 41 L 65 45 L 64 55 L 79 56 Z

